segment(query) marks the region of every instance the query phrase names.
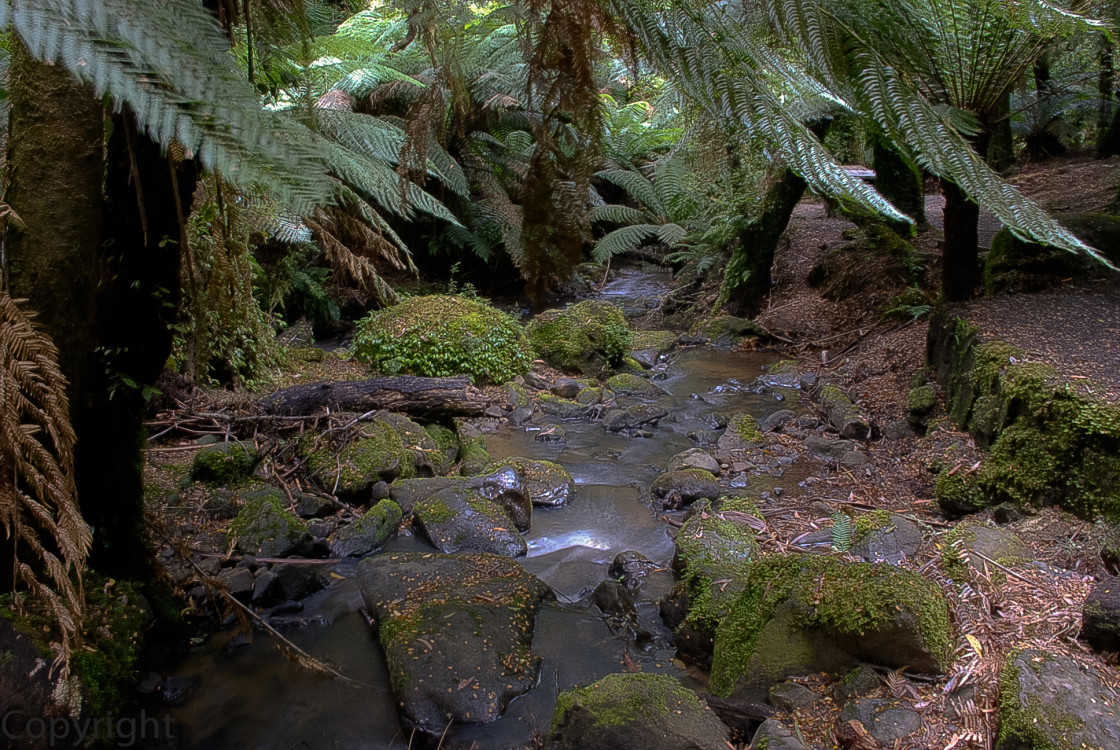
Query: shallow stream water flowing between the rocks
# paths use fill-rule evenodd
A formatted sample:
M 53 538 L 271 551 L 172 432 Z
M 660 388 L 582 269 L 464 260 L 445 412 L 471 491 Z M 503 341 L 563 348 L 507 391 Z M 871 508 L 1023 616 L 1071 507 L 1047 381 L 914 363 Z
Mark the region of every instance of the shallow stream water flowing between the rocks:
M 608 299 L 634 300 L 663 290 L 663 278 L 624 274 L 606 290 Z M 534 650 L 543 658 L 540 683 L 516 699 L 492 724 L 455 726 L 444 748 L 479 750 L 519 748 L 534 732 L 547 732 L 560 691 L 594 682 L 626 668 L 662 672 L 698 686 L 673 658 L 671 634 L 657 615 L 656 601 L 672 587 L 668 571 L 674 528 L 648 493 L 650 484 L 676 452 L 693 447 L 689 432 L 710 425 L 711 415 L 738 412 L 763 418 L 795 407 L 795 391 L 758 394 L 745 387 L 775 360 L 763 353 L 712 348 L 684 349 L 662 365 L 656 383 L 665 390 L 659 403 L 670 416 L 650 438 L 606 432 L 598 422 L 562 422 L 567 442 L 534 440 L 554 420 L 538 414 L 523 426 L 502 425 L 486 435 L 495 459 L 525 457 L 561 463 L 576 479 L 576 491 L 562 508 L 535 508 L 525 534 L 526 570 L 553 588 L 557 601 L 538 618 Z M 777 396 L 785 401 L 777 401 Z M 620 405 L 627 405 L 619 399 Z M 790 482 L 791 476 L 752 479 L 756 491 Z M 385 552 L 430 550 L 417 537 L 399 537 Z M 608 578 L 614 556 L 634 550 L 662 569 L 635 597 L 640 625 L 652 647 L 638 650 L 612 630 L 598 609 L 581 602 Z M 231 634 L 211 637 L 171 674 L 194 681 L 193 697 L 171 710 L 180 747 L 199 749 L 287 750 L 407 748 L 389 688 L 376 634 L 366 622 L 354 579 L 355 561 L 327 566 L 332 584 L 305 600 L 307 627 L 284 635 L 315 657 L 334 665 L 356 684 L 318 677 L 288 662 L 264 635 L 249 647 L 226 651 Z M 413 743 L 412 747 L 418 747 Z

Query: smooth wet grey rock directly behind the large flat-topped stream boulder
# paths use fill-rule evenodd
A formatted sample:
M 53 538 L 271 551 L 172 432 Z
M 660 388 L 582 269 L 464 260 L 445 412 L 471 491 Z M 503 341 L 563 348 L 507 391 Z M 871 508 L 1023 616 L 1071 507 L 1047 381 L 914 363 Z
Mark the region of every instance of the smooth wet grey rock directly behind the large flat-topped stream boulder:
M 506 509 L 469 487 L 450 487 L 417 501 L 412 517 L 417 531 L 440 552 L 488 552 L 507 557 L 529 552 Z

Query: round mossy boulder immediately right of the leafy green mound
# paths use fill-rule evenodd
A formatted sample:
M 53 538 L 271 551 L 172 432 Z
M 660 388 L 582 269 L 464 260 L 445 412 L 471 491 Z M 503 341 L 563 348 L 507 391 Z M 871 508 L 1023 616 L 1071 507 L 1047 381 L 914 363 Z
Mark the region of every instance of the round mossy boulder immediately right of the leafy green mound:
M 529 324 L 536 355 L 557 369 L 598 377 L 622 364 L 631 351 L 631 330 L 622 310 L 585 300 L 564 310 L 548 310 Z

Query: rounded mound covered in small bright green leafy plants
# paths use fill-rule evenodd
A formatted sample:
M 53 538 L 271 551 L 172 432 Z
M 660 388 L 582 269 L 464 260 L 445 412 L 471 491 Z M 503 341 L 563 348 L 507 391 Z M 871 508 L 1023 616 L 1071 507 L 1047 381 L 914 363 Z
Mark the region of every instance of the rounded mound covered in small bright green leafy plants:
M 354 357 L 386 374 L 467 374 L 497 384 L 532 366 L 521 324 L 483 300 L 449 294 L 412 297 L 370 313 L 357 325 Z

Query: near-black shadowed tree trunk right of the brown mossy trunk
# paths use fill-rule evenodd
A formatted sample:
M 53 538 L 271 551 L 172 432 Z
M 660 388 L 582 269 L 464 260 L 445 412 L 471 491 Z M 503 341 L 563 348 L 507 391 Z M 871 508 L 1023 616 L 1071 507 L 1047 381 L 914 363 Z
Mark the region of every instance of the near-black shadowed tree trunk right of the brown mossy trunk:
M 113 116 L 105 149 L 105 236 L 100 255 L 94 337 L 102 357 L 90 373 L 78 432 L 77 485 L 85 519 L 97 531 L 91 564 L 147 580 L 143 528 L 143 387 L 171 350 L 179 301 L 179 217 L 190 210 L 194 162 L 172 170 L 138 132 L 129 107 Z M 100 186 L 99 186 L 100 187 Z

